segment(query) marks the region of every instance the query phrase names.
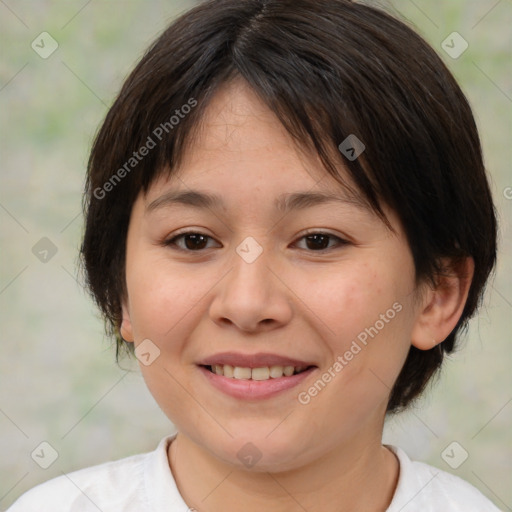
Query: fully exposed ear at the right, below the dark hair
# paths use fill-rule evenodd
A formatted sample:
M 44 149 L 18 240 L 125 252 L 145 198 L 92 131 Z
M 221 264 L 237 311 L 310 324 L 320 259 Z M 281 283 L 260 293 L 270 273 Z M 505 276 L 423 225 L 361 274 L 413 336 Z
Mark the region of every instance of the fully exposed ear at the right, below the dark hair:
M 471 286 L 475 263 L 467 257 L 453 265 L 442 260 L 450 274 L 438 276 L 434 288 L 424 293 L 422 306 L 412 330 L 412 345 L 420 350 L 429 350 L 444 341 L 459 321 Z

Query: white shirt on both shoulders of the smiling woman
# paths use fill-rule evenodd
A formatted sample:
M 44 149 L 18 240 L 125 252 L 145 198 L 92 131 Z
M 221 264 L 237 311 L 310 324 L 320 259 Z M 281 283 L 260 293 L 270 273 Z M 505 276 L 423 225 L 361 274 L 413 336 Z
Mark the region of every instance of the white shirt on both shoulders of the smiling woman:
M 23 494 L 7 512 L 190 512 L 169 468 L 164 437 L 153 452 L 62 475 Z M 500 512 L 459 477 L 398 457 L 400 476 L 386 512 Z

